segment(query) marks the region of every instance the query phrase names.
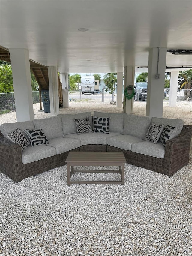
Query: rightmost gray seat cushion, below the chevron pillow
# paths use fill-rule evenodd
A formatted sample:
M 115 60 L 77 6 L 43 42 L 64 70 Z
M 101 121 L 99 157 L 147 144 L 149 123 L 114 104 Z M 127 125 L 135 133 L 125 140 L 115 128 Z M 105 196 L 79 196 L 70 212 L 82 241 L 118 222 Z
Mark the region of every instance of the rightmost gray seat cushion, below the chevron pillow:
M 161 142 L 156 144 L 152 143 L 151 141 L 133 143 L 131 146 L 131 151 L 157 158 L 164 158 L 165 156 L 165 147 L 163 144 L 161 144 Z

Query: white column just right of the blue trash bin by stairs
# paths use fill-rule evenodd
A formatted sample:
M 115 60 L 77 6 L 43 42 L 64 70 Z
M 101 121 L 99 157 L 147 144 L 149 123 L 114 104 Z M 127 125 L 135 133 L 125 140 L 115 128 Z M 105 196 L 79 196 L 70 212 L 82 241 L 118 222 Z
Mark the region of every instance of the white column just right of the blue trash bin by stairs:
M 59 92 L 58 92 L 58 74 L 57 67 L 51 66 L 48 68 L 49 76 L 49 98 L 51 115 L 56 116 L 59 114 Z

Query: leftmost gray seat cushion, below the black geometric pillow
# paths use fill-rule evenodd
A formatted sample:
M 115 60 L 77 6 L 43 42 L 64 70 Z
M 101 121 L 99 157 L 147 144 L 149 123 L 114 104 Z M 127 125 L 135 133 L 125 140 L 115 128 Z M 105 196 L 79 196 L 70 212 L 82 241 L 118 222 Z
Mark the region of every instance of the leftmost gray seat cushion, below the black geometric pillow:
M 22 163 L 32 163 L 50 156 L 56 155 L 54 147 L 46 145 L 29 146 L 22 152 Z

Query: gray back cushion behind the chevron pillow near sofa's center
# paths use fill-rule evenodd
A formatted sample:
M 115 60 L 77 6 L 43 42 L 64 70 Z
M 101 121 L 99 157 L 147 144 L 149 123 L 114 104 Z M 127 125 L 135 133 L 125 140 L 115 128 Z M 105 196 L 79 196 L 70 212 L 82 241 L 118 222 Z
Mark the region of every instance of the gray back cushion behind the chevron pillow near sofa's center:
M 82 118 L 85 118 L 88 116 L 89 122 L 91 125 L 91 129 L 93 128 L 91 112 L 84 112 L 84 113 L 79 113 L 79 114 L 59 114 L 58 116 L 61 117 L 64 135 L 77 132 L 77 126 L 74 121 L 74 118 L 82 119 Z

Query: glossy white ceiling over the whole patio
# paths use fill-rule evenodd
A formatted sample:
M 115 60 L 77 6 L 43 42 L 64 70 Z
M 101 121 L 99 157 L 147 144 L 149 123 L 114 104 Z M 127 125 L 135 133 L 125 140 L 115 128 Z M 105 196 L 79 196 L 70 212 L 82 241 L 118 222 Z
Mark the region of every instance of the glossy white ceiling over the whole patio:
M 192 49 L 192 1 L 1 0 L 0 9 L 0 45 L 60 72 L 122 72 L 148 66 L 152 47 Z M 166 66 L 191 67 L 192 55 L 167 52 Z

